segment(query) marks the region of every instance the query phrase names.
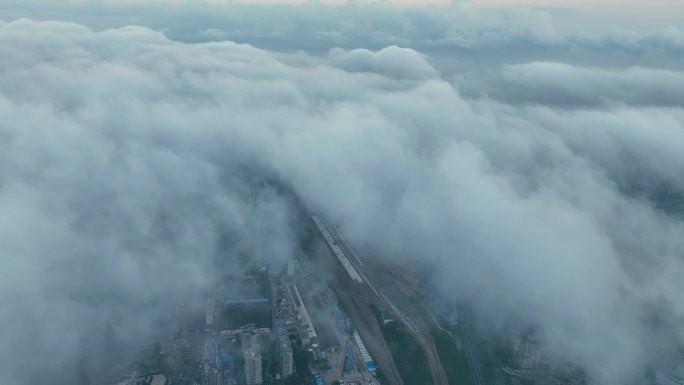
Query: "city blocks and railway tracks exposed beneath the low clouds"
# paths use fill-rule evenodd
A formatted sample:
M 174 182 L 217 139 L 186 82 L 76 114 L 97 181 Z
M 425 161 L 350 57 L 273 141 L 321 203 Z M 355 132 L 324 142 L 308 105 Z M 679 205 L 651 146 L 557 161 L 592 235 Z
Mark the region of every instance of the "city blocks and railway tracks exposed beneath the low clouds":
M 599 385 L 554 357 L 542 330 L 478 328 L 420 266 L 364 258 L 313 215 L 290 255 L 226 269 L 177 325 L 88 385 Z M 684 385 L 684 356 L 633 385 Z

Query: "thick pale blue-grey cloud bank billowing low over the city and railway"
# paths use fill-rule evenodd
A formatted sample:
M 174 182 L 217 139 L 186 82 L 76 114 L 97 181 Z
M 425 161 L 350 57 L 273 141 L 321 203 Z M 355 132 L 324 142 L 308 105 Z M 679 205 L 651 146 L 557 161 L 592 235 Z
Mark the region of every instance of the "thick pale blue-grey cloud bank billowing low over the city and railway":
M 3 383 L 60 378 L 108 320 L 145 334 L 211 284 L 226 238 L 287 249 L 279 184 L 358 243 L 439 267 L 482 314 L 540 325 L 604 384 L 681 339 L 645 319 L 684 316 L 684 226 L 628 188 L 684 190 L 677 90 L 642 92 L 681 73 L 522 64 L 470 100 L 410 49 L 320 58 L 29 20 L 0 25 L 0 57 Z M 522 91 L 533 105 L 510 102 Z

